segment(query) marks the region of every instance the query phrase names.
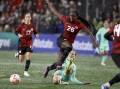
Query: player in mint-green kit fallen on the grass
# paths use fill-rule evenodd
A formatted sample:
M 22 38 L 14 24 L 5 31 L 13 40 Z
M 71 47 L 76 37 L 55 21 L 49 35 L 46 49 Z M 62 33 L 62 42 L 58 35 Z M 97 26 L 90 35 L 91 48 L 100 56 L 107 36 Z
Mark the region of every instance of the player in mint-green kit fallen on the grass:
M 62 69 L 55 71 L 53 75 L 54 84 L 69 84 L 69 82 L 73 84 L 84 84 L 75 77 L 76 75 L 76 65 L 74 63 L 75 57 L 76 57 L 75 51 L 71 51 L 65 63 L 62 64 Z

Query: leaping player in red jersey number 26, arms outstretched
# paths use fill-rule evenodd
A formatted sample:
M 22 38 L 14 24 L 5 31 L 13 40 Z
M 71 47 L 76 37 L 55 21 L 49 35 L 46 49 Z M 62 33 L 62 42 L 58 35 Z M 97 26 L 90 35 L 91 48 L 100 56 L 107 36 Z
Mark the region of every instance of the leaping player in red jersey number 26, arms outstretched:
M 80 30 L 87 32 L 92 39 L 93 45 L 96 46 L 96 42 L 92 33 L 78 19 L 78 16 L 75 13 L 72 13 L 70 16 L 63 16 L 53 8 L 52 3 L 49 0 L 46 0 L 46 2 L 48 3 L 48 7 L 51 10 L 51 12 L 53 12 L 53 14 L 56 15 L 63 22 L 64 32 L 57 39 L 57 45 L 60 48 L 59 59 L 57 62 L 53 63 L 51 66 L 47 67 L 44 77 L 47 77 L 48 72 L 50 70 L 56 69 L 57 67 L 61 67 L 66 57 L 68 56 L 69 52 L 72 50 L 73 48 L 72 44 L 74 43 L 76 35 Z

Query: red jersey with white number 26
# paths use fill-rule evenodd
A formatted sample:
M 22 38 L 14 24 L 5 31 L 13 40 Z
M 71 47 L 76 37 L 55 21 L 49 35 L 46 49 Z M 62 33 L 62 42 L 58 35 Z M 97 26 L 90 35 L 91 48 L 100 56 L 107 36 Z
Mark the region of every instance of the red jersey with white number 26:
M 75 21 L 73 23 L 70 23 L 68 21 L 68 16 L 60 16 L 59 19 L 64 24 L 63 37 L 69 43 L 74 42 L 76 35 L 80 30 L 87 28 L 84 24 L 80 23 L 79 21 Z

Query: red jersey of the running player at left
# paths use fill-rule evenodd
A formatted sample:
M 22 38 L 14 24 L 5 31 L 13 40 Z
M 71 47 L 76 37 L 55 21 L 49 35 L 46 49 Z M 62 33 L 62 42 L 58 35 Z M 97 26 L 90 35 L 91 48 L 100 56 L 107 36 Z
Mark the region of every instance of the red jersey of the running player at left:
M 20 38 L 19 47 L 32 47 L 32 35 L 37 34 L 37 31 L 32 24 L 27 25 L 21 23 L 17 27 L 16 32 L 22 35 Z

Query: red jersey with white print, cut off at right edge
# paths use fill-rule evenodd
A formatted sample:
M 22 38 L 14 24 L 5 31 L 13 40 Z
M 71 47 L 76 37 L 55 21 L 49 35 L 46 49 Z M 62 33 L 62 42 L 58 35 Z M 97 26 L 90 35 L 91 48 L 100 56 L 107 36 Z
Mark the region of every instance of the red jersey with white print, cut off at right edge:
M 108 34 L 112 36 L 112 54 L 120 54 L 120 24 L 114 26 L 110 29 Z

